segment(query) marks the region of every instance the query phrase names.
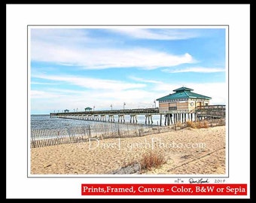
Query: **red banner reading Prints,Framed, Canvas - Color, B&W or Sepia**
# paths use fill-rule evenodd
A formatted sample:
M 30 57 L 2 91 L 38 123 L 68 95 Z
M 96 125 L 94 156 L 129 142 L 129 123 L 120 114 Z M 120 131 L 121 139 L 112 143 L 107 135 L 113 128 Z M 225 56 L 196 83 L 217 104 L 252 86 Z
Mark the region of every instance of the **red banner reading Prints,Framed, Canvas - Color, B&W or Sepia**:
M 247 184 L 82 184 L 81 195 L 247 195 Z

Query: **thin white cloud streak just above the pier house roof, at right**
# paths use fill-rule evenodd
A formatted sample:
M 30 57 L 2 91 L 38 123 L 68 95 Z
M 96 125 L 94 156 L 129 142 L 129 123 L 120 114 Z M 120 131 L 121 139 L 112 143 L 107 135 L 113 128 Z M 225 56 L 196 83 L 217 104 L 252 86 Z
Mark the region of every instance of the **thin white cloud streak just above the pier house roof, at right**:
M 190 67 L 180 69 L 163 69 L 166 73 L 183 73 L 183 72 L 197 72 L 197 73 L 215 73 L 224 72 L 225 68 L 206 68 L 206 67 Z

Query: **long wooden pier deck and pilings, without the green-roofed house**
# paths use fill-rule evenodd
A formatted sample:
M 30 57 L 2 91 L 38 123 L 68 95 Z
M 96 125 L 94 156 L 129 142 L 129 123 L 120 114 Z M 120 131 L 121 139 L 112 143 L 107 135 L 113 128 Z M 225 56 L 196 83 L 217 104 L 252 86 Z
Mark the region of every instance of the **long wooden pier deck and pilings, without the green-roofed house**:
M 91 120 L 110 123 L 138 123 L 137 116 L 145 115 L 145 125 L 153 124 L 153 116 L 160 115 L 159 126 L 170 126 L 175 123 L 185 123 L 187 120 L 196 121 L 203 119 L 215 119 L 225 117 L 225 105 L 207 105 L 197 107 L 194 111 L 187 110 L 169 110 L 161 111 L 159 108 L 139 108 L 125 110 L 109 110 L 109 111 L 79 111 L 50 113 L 50 117 L 73 120 Z M 130 116 L 130 120 L 125 120 L 125 116 Z M 164 117 L 164 123 L 162 119 Z M 114 118 L 117 118 L 115 120 Z M 158 123 L 157 123 L 158 125 Z

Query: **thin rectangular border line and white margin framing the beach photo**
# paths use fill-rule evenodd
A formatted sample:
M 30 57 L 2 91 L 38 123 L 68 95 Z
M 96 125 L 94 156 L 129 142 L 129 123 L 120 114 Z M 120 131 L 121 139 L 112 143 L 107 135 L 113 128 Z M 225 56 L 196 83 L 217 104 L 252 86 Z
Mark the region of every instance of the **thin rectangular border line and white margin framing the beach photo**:
M 27 144 L 27 168 L 26 168 L 26 171 L 27 171 L 27 174 L 26 174 L 26 177 L 27 178 L 180 178 L 180 179 L 182 179 L 182 178 L 200 178 L 200 177 L 194 177 L 194 176 L 190 176 L 190 177 L 180 177 L 180 176 L 177 176 L 177 177 L 168 177 L 168 176 L 164 176 L 164 177 L 155 177 L 155 176 L 148 176 L 148 177 L 137 177 L 137 176 L 116 176 L 116 175 L 114 175 L 113 177 L 112 176 L 107 176 L 107 177 L 105 177 L 105 176 L 99 176 L 99 177 L 94 177 L 94 176 L 79 176 L 79 174 L 78 174 L 78 176 L 74 176 L 74 177 L 53 177 L 53 176 L 43 176 L 43 177 L 37 177 L 37 176 L 29 176 L 29 117 L 30 117 L 30 114 L 29 114 L 29 80 L 30 80 L 30 78 L 29 78 L 29 26 L 47 26 L 47 27 L 50 27 L 50 26 L 54 26 L 54 27 L 56 27 L 56 26 L 88 26 L 88 27 L 90 27 L 90 26 L 92 26 L 92 27 L 94 27 L 94 26 L 198 26 L 198 27 L 200 27 L 200 26 L 227 26 L 227 29 L 226 29 L 226 31 L 227 31 L 227 42 L 226 42 L 226 44 L 227 44 L 227 50 L 226 50 L 226 54 L 227 54 L 227 109 L 228 109 L 228 113 L 229 113 L 229 105 L 230 105 L 230 100 L 229 100 L 229 98 L 230 98 L 230 91 L 229 91 L 229 89 L 230 89 L 230 85 L 229 85 L 229 80 L 230 80 L 230 75 L 229 75 L 229 67 L 230 67 L 230 41 L 229 41 L 229 39 L 230 39 L 230 30 L 229 30 L 229 25 L 27 25 L 27 38 L 26 38 L 26 45 L 27 45 L 27 59 L 26 59 L 26 61 L 27 61 L 27 141 L 26 141 L 26 144 Z M 82 28 L 77 28 L 77 29 L 82 29 Z M 88 28 L 84 28 L 84 29 L 88 29 Z M 93 28 L 92 28 L 93 29 Z M 195 29 L 197 29 L 197 28 L 195 28 Z M 209 177 L 204 177 L 203 176 L 203 178 L 215 178 L 215 179 L 224 179 L 224 178 L 228 178 L 228 177 L 230 177 L 230 133 L 229 133 L 229 114 L 226 114 L 226 117 L 227 117 L 227 123 L 226 123 L 226 129 L 227 129 L 227 145 L 226 146 L 228 146 L 228 150 L 227 150 L 227 147 L 225 148 L 226 150 L 227 150 L 227 157 L 228 157 L 228 162 L 227 162 L 227 159 L 226 159 L 226 165 L 227 165 L 227 176 L 221 176 L 221 177 L 217 177 L 217 176 L 215 176 L 215 177 L 211 177 L 211 176 L 209 176 Z M 228 126 L 228 127 L 227 127 Z M 47 175 L 47 174 L 46 174 Z M 56 174 L 53 174 L 53 175 L 56 175 Z M 64 174 L 65 175 L 65 174 Z M 66 175 L 68 175 L 68 174 L 66 174 Z M 92 174 L 92 175 L 94 175 L 94 174 Z M 95 175 L 97 175 L 97 174 L 95 174 Z M 98 174 L 98 175 L 105 175 L 105 174 Z M 178 174 L 179 175 L 179 174 Z

